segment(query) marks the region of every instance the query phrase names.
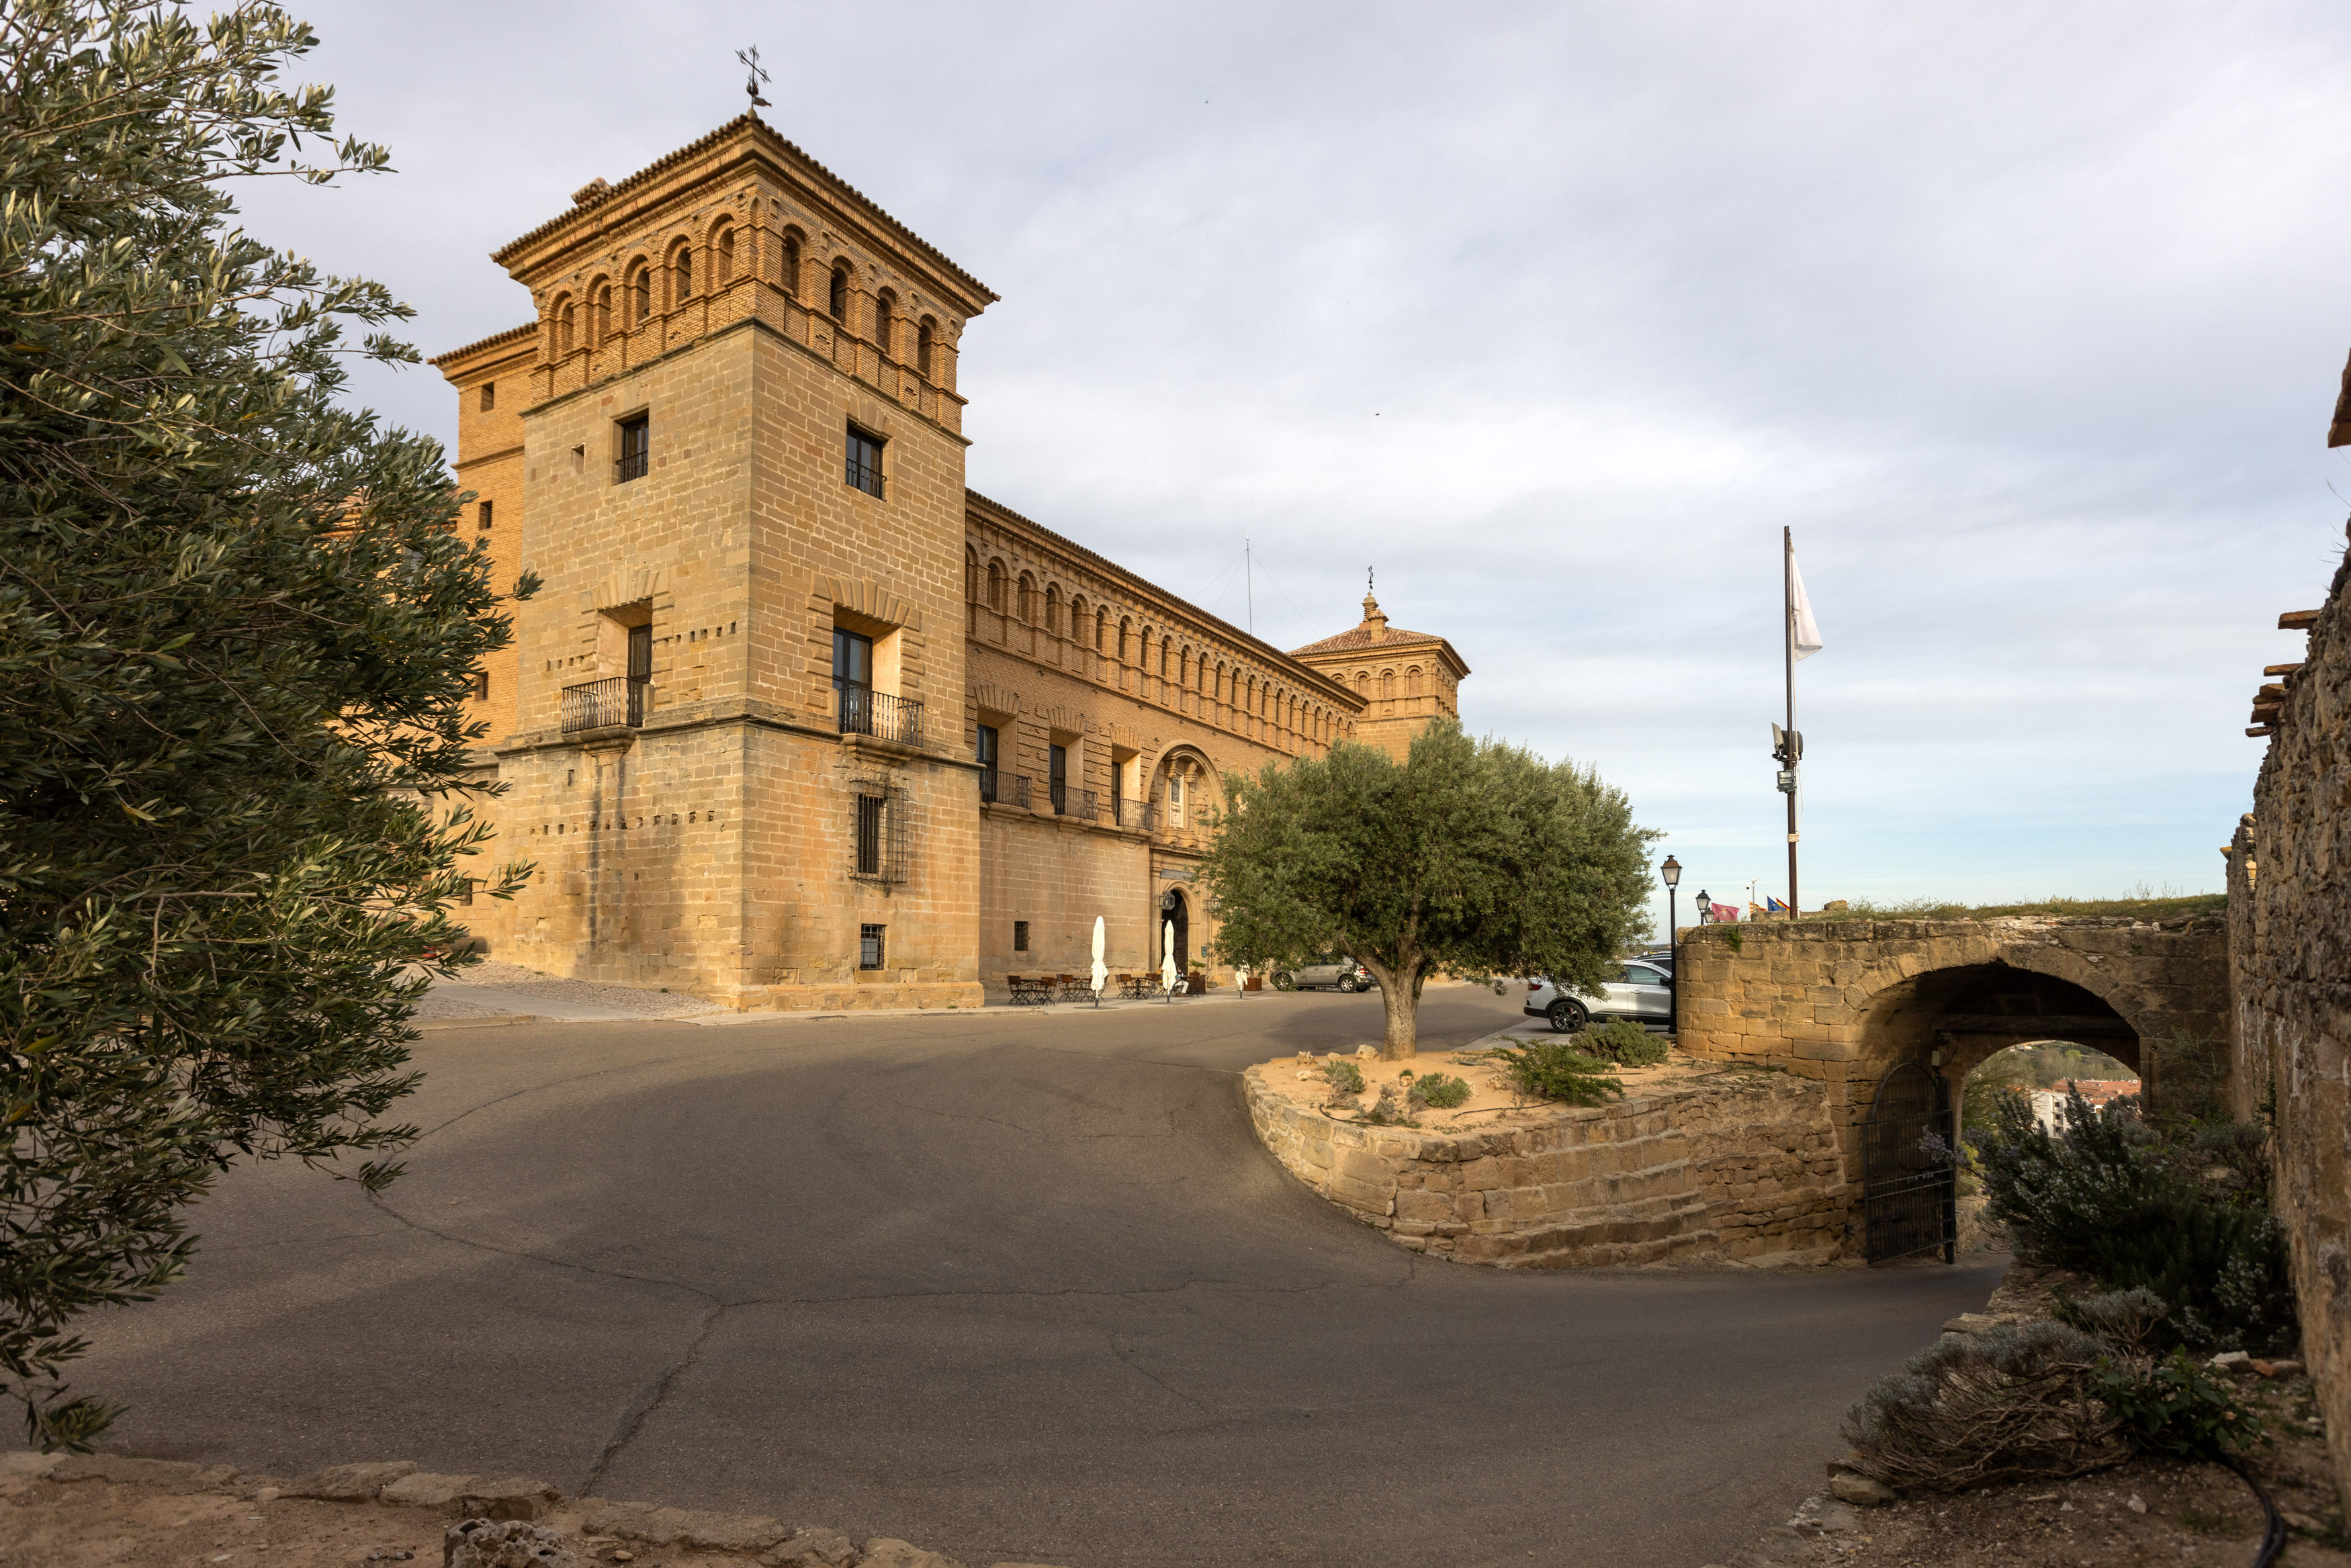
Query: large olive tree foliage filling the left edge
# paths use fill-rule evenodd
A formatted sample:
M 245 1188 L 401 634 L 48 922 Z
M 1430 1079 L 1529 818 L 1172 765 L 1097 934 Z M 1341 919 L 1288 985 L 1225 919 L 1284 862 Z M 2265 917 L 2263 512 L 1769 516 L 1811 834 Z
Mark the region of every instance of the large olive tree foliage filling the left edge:
M 409 310 L 228 226 L 228 179 L 386 167 L 275 82 L 313 45 L 0 0 L 0 1389 L 42 1448 L 113 1415 L 73 1321 L 183 1269 L 235 1157 L 395 1175 L 409 966 L 484 839 L 489 559 L 440 447 L 336 407 L 414 360 L 343 324 Z

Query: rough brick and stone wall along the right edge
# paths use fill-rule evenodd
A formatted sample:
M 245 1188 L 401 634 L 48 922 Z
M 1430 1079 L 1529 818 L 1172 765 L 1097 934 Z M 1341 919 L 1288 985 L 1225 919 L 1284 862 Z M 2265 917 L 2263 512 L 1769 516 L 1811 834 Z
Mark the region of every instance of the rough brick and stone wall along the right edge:
M 2271 1124 L 2302 1352 L 2351 1500 L 2351 611 L 2337 569 L 2229 846 L 2231 1107 Z

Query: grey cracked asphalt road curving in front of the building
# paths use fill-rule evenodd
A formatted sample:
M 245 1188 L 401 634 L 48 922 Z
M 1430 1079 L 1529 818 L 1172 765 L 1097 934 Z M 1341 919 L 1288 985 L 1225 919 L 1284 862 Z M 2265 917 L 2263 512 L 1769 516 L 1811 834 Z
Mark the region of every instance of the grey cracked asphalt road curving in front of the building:
M 1425 1046 L 1514 1018 L 1425 1001 Z M 966 1563 L 1695 1566 L 1989 1269 L 1425 1262 L 1255 1143 L 1237 1070 L 1378 997 L 430 1034 L 407 1175 L 245 1168 L 94 1324 L 108 1446 L 404 1458 Z

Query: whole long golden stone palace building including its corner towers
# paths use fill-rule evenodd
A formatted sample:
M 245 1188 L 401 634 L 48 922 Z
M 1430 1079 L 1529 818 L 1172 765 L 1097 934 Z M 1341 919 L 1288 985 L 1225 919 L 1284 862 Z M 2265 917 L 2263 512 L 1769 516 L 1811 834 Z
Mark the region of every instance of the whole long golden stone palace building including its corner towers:
M 1444 637 L 1284 654 L 964 487 L 997 296 L 755 115 L 496 252 L 536 320 L 435 360 L 513 583 L 489 954 L 741 1009 L 976 1006 L 1201 966 L 1227 771 L 1455 715 Z

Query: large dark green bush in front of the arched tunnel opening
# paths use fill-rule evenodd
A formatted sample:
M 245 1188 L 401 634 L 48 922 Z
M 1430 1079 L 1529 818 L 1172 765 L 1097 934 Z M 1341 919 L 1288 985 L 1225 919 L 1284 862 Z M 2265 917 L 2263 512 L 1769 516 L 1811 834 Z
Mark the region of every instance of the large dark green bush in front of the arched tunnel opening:
M 2168 1345 L 2283 1352 L 2297 1338 L 2285 1229 L 2245 1171 L 2205 1180 L 2217 1152 L 2257 1168 L 2250 1143 L 2226 1124 L 2158 1128 L 2069 1091 L 2055 1133 L 2003 1095 L 1972 1154 L 1984 1215 L 2008 1225 L 2020 1258 L 2151 1291 L 2170 1309 Z

